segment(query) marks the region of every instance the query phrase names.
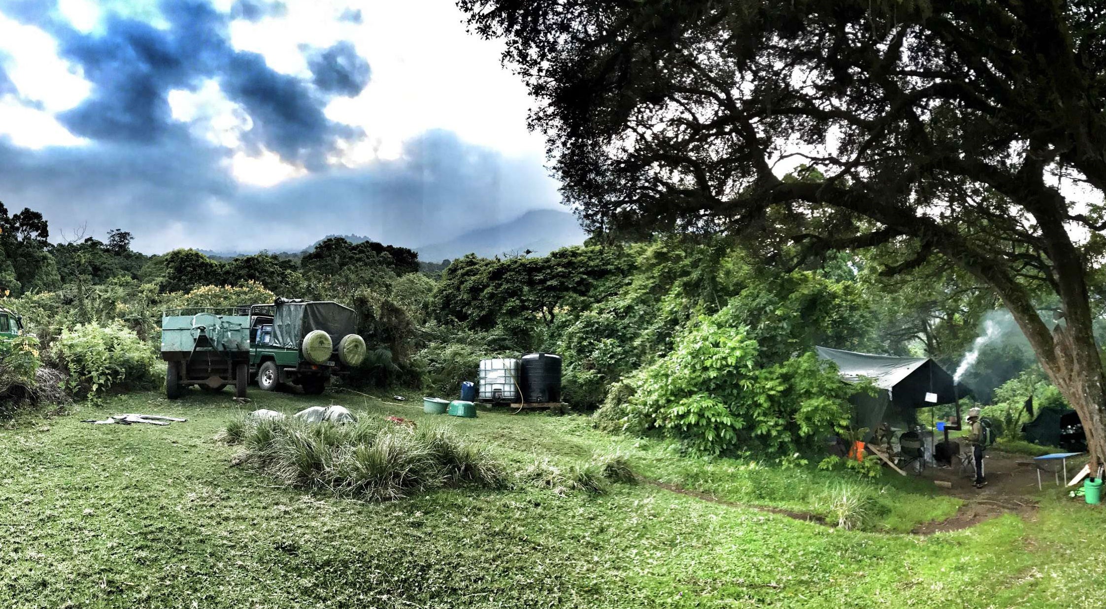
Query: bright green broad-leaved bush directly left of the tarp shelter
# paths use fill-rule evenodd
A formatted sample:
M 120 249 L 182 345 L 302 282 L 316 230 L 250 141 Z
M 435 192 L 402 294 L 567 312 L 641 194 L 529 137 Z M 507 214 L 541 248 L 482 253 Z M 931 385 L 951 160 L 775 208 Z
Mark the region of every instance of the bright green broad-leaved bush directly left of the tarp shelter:
M 629 377 L 629 418 L 707 454 L 791 455 L 848 424 L 852 389 L 834 368 L 813 354 L 758 367 L 758 344 L 735 317 L 731 307 L 700 317 L 670 354 Z

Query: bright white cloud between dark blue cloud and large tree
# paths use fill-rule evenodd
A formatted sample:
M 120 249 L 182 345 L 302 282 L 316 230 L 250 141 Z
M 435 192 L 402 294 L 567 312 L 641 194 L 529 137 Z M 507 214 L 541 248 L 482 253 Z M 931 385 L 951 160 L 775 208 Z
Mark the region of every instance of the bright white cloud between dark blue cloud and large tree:
M 508 155 L 542 155 L 541 136 L 525 126 L 531 105 L 525 86 L 500 65 L 502 44 L 469 34 L 463 14 L 440 0 L 373 0 L 358 3 L 363 23 L 337 21 L 346 2 L 286 2 L 288 14 L 231 25 L 237 49 L 261 53 L 273 70 L 307 77 L 304 45 L 353 42 L 373 71 L 356 98 L 337 97 L 326 108 L 335 122 L 364 127 L 366 140 L 342 161 L 359 165 L 396 158 L 403 143 L 429 129 Z

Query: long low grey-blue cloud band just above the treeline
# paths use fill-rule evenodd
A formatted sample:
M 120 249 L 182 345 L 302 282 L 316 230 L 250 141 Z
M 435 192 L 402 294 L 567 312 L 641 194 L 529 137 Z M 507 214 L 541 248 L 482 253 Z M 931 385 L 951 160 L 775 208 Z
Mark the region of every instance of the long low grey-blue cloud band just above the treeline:
M 351 232 L 418 246 L 557 201 L 539 159 L 505 159 L 448 132 L 408 141 L 395 160 L 269 188 L 238 185 L 225 160 L 225 150 L 177 135 L 42 150 L 0 137 L 0 200 L 43 212 L 55 238 L 81 225 L 101 239 L 123 228 L 152 253 L 298 251 Z

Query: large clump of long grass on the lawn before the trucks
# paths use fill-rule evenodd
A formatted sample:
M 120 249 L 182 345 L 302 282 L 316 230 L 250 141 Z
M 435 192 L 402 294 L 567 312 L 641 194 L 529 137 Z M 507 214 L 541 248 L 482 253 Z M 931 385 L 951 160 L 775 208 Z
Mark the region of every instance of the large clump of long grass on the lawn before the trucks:
M 497 487 L 504 480 L 487 448 L 449 429 L 413 429 L 367 416 L 354 424 L 236 419 L 218 439 L 242 447 L 236 462 L 284 484 L 368 501 L 442 486 Z

